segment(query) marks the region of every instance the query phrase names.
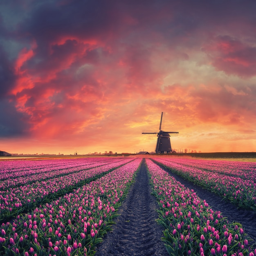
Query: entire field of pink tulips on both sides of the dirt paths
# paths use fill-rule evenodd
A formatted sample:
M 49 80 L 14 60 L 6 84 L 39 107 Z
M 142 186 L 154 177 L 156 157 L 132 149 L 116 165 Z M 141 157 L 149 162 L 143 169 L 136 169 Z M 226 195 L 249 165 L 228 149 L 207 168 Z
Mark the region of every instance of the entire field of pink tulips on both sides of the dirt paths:
M 0 255 L 94 255 L 141 166 L 148 175 L 144 186 L 158 204 L 154 211 L 168 254 L 256 255 L 240 223 L 213 211 L 161 165 L 256 211 L 255 163 L 171 157 L 1 161 Z

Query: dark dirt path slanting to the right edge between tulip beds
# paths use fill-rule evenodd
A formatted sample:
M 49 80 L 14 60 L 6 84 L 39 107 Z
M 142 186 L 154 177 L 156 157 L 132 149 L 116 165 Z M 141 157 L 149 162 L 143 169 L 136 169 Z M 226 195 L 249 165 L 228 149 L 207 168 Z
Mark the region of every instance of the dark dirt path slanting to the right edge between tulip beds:
M 161 168 L 163 168 L 163 166 L 161 166 Z M 193 189 L 202 200 L 206 200 L 211 209 L 221 211 L 222 216 L 227 217 L 229 222 L 240 222 L 244 227 L 245 233 L 256 243 L 256 213 L 250 210 L 238 209 L 234 204 L 221 198 L 219 195 L 183 179 L 166 168 L 163 169 L 184 186 Z

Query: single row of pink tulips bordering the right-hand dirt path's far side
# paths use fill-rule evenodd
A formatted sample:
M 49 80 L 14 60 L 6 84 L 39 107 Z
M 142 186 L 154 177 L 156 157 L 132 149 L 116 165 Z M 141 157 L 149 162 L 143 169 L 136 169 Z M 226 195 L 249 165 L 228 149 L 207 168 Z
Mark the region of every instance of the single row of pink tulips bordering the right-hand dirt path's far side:
M 253 180 L 205 171 L 166 159 L 157 158 L 155 161 L 173 173 L 228 199 L 238 207 L 256 211 L 256 182 Z

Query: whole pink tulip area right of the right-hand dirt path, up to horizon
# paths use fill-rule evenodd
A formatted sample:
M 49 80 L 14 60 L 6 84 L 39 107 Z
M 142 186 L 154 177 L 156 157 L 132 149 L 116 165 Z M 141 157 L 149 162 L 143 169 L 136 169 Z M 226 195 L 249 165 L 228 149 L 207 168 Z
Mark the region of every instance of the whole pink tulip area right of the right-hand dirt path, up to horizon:
M 256 164 L 198 159 L 154 159 L 172 172 L 256 212 Z

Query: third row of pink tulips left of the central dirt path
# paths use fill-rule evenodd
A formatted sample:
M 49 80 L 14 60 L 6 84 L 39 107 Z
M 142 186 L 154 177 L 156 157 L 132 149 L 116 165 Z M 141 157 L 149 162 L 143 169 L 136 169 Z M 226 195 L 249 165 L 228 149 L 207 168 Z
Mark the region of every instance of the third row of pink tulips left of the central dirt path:
M 8 179 L 0 181 L 0 191 L 7 190 L 8 188 L 18 187 L 24 184 L 31 184 L 33 182 L 40 182 L 59 176 L 69 175 L 71 173 L 81 172 L 90 168 L 95 168 L 109 163 L 112 164 L 113 162 L 119 162 L 124 159 L 107 159 L 107 161 L 103 162 L 102 159 L 97 160 L 98 161 L 92 162 L 92 160 L 88 161 L 88 159 L 85 158 L 84 161 L 81 161 L 80 159 L 79 161 L 74 161 L 72 163 L 62 161 L 62 164 L 59 164 L 58 166 L 40 168 L 38 170 L 33 169 L 33 174 L 30 171 L 21 171 L 24 173 L 22 176 L 9 177 Z M 33 167 L 31 166 L 31 168 Z

